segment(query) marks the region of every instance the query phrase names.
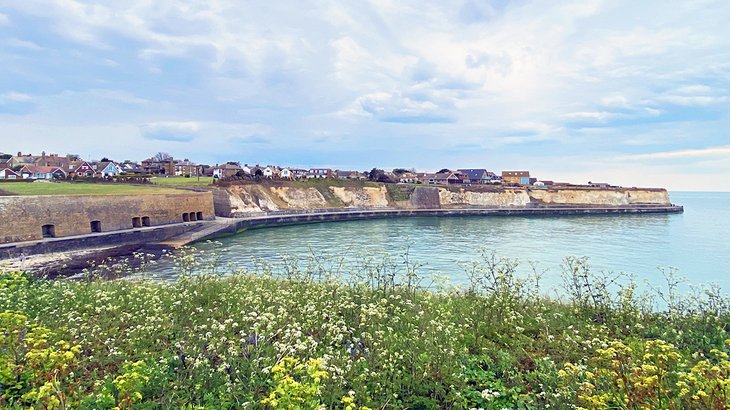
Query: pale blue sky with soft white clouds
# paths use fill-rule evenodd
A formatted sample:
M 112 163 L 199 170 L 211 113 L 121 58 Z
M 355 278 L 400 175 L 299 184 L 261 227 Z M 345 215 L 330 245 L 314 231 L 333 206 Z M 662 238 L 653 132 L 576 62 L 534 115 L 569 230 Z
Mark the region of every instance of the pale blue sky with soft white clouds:
M 0 152 L 730 191 L 730 2 L 0 0 Z

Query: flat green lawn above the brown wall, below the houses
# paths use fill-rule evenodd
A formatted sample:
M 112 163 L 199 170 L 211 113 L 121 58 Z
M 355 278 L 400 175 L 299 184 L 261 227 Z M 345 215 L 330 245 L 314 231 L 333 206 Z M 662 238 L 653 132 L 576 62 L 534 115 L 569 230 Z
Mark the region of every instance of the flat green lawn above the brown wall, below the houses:
M 11 195 L 144 195 L 180 192 L 173 188 L 151 185 L 86 182 L 0 183 L 0 190 Z

